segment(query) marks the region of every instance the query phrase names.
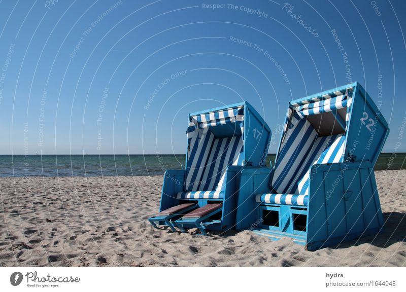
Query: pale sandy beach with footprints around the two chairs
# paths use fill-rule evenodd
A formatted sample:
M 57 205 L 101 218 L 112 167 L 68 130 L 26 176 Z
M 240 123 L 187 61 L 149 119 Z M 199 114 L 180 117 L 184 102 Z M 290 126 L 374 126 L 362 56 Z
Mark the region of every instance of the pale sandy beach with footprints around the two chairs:
M 2 177 L 0 265 L 404 267 L 406 170 L 376 177 L 385 232 L 315 252 L 250 231 L 153 229 L 146 219 L 158 210 L 162 176 Z

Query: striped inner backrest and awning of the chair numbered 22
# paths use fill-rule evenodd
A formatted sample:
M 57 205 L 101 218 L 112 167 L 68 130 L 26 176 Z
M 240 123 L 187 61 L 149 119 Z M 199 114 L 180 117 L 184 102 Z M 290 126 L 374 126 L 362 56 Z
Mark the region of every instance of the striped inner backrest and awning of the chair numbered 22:
M 306 195 L 311 167 L 343 162 L 351 88 L 289 104 L 270 181 L 273 192 Z

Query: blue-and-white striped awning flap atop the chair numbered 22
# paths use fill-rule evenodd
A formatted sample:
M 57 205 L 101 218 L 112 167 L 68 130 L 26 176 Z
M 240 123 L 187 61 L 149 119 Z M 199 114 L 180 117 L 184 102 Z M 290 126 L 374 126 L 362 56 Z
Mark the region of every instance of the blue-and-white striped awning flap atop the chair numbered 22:
M 352 88 L 343 91 L 337 91 L 333 94 L 326 94 L 321 97 L 304 100 L 291 104 L 292 109 L 297 112 L 300 118 L 305 116 L 318 115 L 335 111 L 336 109 L 349 107 L 352 97 L 348 94 Z

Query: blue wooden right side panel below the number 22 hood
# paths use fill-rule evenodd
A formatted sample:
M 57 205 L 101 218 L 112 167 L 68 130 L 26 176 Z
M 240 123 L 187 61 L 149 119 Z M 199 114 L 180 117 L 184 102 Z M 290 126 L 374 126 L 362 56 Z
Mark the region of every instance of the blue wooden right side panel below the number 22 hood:
M 383 231 L 381 205 L 370 162 L 322 165 L 313 172 L 306 240 L 309 250 Z

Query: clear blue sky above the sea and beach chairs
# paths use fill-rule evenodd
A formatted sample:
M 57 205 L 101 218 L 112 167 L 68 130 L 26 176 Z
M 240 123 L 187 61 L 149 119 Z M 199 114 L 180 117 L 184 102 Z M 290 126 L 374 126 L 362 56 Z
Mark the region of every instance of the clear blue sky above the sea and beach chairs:
M 190 112 L 247 100 L 274 130 L 292 98 L 377 100 L 379 76 L 393 151 L 404 1 L 231 3 L 1 1 L 0 154 L 184 154 Z

